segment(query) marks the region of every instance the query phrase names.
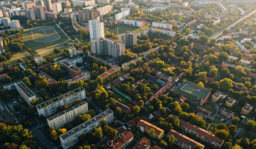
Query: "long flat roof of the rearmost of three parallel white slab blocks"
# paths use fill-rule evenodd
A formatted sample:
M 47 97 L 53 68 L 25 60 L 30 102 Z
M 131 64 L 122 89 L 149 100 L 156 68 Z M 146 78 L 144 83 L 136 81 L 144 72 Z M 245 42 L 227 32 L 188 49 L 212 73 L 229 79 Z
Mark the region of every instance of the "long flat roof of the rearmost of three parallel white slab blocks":
M 62 94 L 62 95 L 60 95 L 60 96 L 57 96 L 57 97 L 55 97 L 54 99 L 50 99 L 50 100 L 48 100 L 48 101 L 45 101 L 45 102 L 43 102 L 42 104 L 38 104 L 36 107 L 37 107 L 38 109 L 42 109 L 42 108 L 44 108 L 45 106 L 48 106 L 48 105 L 53 104 L 53 103 L 55 103 L 55 102 L 57 102 L 57 101 L 60 101 L 60 100 L 65 99 L 67 96 L 70 96 L 70 95 L 72 95 L 72 94 L 76 94 L 76 93 L 78 93 L 78 92 L 82 92 L 82 90 L 85 90 L 85 89 L 84 89 L 83 87 L 78 87 L 77 89 L 74 89 L 73 91 L 70 91 L 70 92 L 68 92 L 68 93 Z

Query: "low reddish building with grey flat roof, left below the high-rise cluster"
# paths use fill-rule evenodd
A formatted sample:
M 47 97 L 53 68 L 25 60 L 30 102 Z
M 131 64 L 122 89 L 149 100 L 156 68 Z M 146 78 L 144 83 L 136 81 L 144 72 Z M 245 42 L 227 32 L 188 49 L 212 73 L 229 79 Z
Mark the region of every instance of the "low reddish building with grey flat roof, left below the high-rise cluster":
M 77 77 L 78 75 L 82 75 L 82 71 L 70 62 L 61 62 L 61 66 L 66 70 L 66 72 L 68 72 L 68 75 L 71 78 Z

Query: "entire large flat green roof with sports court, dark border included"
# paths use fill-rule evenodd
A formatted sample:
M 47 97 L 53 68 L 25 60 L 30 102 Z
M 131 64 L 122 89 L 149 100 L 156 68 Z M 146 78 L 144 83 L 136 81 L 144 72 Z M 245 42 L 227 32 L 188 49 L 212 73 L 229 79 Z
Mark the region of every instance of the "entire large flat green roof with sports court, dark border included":
M 206 96 L 210 93 L 210 89 L 188 81 L 183 82 L 175 91 L 197 101 L 206 99 Z

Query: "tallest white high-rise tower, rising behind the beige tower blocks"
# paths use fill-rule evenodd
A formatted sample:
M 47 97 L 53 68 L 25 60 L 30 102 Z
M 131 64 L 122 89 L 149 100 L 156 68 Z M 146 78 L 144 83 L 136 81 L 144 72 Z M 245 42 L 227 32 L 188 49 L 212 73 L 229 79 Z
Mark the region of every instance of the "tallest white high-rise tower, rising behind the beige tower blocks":
M 98 22 L 97 20 L 90 20 L 89 30 L 90 30 L 90 40 L 97 40 L 100 38 L 105 38 L 104 33 L 104 23 Z

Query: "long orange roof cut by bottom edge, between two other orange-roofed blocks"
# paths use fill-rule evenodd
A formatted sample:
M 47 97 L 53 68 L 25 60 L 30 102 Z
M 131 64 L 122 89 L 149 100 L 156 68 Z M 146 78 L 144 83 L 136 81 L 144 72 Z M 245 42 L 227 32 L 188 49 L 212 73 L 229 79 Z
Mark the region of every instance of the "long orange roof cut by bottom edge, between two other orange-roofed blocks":
M 193 140 L 191 138 L 188 138 L 187 136 L 178 133 L 177 131 L 174 131 L 174 129 L 171 129 L 171 131 L 169 131 L 168 133 L 169 136 L 173 135 L 175 139 L 181 141 L 182 143 L 186 144 L 186 145 L 191 145 L 191 147 L 195 147 L 196 145 L 201 146 L 201 148 L 204 147 L 203 144 L 196 142 L 196 140 Z

